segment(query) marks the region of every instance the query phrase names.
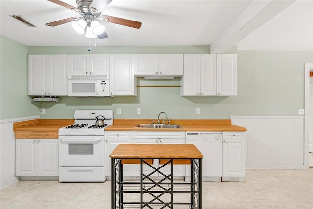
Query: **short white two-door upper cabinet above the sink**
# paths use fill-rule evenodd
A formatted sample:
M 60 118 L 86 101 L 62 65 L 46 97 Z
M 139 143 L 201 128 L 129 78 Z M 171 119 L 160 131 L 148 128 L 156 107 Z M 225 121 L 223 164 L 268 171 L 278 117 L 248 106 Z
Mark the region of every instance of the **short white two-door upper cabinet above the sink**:
M 135 54 L 136 76 L 182 76 L 182 54 Z

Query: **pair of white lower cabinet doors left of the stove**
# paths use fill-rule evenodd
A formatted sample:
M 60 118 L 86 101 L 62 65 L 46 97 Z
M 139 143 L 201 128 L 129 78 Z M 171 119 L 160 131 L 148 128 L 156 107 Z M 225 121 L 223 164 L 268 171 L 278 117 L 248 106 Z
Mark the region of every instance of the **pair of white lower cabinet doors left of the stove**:
M 16 176 L 59 176 L 58 139 L 16 139 Z

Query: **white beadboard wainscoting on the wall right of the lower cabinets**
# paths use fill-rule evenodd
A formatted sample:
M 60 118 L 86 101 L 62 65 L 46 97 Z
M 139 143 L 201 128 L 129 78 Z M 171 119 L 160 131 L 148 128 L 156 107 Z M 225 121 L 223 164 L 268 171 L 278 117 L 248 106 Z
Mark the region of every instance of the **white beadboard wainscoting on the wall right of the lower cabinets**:
M 246 169 L 308 169 L 304 116 L 230 116 L 246 132 Z M 307 154 L 307 153 L 306 153 Z

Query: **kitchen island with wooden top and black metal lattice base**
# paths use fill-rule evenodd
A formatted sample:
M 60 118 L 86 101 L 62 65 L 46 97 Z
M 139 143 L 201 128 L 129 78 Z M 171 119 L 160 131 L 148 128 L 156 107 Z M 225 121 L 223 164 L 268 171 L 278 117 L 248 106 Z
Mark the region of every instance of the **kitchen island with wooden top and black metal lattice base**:
M 111 209 L 202 209 L 202 158 L 192 144 L 120 144 L 111 157 Z M 159 161 L 159 167 L 153 162 Z M 140 180 L 123 178 L 123 164 L 140 164 Z M 173 180 L 173 165 L 190 164 L 191 181 Z M 143 167 L 151 172 L 143 172 Z M 170 172 L 164 172 L 170 167 Z M 158 178 L 153 176 L 158 174 Z M 176 195 L 187 198 L 175 198 Z M 131 196 L 130 196 L 131 195 Z M 185 197 L 184 196 L 184 197 Z M 131 198 L 130 198 L 131 197 Z M 137 197 L 137 198 L 136 198 Z M 180 201 L 179 201 L 180 200 Z

